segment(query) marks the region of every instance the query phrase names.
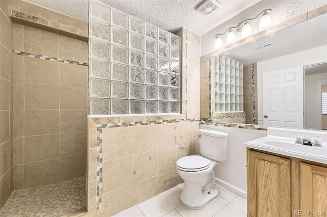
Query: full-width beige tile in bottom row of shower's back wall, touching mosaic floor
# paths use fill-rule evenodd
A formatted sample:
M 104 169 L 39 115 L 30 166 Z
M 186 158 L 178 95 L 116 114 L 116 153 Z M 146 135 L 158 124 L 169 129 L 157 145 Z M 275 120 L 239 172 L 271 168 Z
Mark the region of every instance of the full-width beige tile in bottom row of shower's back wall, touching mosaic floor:
M 59 181 L 59 159 L 42 160 L 24 165 L 24 188 Z

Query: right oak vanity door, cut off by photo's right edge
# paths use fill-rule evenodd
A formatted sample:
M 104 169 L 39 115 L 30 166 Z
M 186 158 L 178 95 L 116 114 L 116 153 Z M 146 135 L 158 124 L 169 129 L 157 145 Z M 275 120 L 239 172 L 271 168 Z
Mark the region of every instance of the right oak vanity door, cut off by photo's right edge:
M 327 216 L 327 168 L 301 163 L 300 201 L 302 211 Z

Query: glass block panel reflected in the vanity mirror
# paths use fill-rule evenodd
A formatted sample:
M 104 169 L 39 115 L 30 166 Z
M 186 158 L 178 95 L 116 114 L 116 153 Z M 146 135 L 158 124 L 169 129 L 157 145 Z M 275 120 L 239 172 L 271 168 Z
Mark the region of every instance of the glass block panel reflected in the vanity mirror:
M 215 57 L 215 112 L 243 111 L 243 63 Z

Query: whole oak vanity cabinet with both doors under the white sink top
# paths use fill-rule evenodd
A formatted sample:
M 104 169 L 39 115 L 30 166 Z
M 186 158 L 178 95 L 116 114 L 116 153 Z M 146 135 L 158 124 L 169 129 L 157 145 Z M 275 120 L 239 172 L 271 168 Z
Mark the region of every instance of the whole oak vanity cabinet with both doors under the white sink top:
M 247 215 L 299 216 L 295 210 L 327 216 L 327 165 L 247 148 Z

